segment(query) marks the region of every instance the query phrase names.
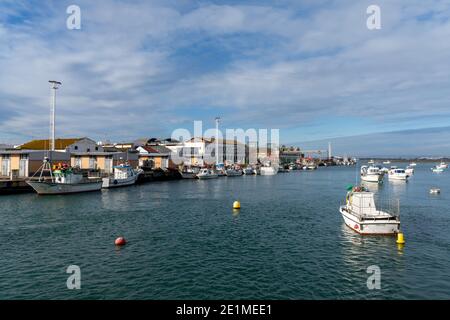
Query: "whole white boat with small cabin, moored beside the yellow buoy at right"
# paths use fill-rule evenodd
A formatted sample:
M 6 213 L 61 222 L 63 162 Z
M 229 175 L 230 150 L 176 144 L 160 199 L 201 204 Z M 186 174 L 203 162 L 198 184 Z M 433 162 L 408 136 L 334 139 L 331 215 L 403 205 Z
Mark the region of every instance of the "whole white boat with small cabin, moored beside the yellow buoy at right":
M 394 235 L 400 230 L 400 216 L 377 209 L 374 193 L 363 187 L 349 187 L 339 211 L 345 224 L 362 235 Z

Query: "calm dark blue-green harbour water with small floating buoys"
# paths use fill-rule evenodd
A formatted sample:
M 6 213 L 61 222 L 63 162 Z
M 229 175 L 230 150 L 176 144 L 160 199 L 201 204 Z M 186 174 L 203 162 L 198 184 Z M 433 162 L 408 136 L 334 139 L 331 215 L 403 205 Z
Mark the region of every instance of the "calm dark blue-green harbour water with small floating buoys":
M 403 249 L 344 225 L 356 167 L 2 196 L 0 299 L 449 299 L 450 172 L 430 166 L 375 187 L 401 201 Z M 380 290 L 367 289 L 371 265 Z

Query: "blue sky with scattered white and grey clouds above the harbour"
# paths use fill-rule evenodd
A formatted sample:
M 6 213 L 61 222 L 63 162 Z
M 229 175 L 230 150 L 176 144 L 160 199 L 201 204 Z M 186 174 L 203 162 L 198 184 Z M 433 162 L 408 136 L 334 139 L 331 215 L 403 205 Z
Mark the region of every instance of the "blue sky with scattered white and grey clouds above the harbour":
M 284 144 L 448 155 L 449 75 L 448 0 L 0 1 L 0 143 L 48 136 L 59 80 L 58 137 L 168 137 L 220 116 Z M 410 145 L 413 131 L 427 134 Z M 384 142 L 351 144 L 370 135 Z

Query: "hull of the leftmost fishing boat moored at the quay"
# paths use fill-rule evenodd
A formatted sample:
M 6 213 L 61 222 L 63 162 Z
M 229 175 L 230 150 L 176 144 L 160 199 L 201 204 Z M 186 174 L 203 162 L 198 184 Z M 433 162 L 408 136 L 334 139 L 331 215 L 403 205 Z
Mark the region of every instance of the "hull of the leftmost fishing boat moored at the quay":
M 37 194 L 57 195 L 57 194 L 100 191 L 102 189 L 103 182 L 95 181 L 95 182 L 69 184 L 69 183 L 52 183 L 43 181 L 27 181 L 27 183 L 37 192 Z

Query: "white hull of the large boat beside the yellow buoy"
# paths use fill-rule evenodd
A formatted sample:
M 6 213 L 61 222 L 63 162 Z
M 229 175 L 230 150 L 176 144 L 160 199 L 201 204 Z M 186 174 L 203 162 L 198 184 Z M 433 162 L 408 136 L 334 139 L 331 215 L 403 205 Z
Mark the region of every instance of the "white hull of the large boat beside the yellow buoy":
M 345 206 L 341 206 L 339 211 L 345 224 L 361 235 L 395 235 L 400 230 L 400 221 L 394 218 L 360 220 L 344 208 Z

